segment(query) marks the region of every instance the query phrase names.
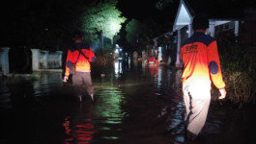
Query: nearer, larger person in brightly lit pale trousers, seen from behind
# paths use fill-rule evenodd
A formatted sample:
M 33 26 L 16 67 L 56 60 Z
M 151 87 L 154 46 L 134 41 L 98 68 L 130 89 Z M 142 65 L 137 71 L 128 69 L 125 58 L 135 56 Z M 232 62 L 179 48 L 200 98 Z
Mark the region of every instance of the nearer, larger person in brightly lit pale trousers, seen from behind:
M 226 96 L 222 79 L 216 40 L 205 33 L 209 28 L 207 15 L 193 18 L 193 35 L 181 47 L 183 93 L 185 100 L 186 139 L 194 140 L 203 129 L 211 102 L 211 84 L 220 96 Z

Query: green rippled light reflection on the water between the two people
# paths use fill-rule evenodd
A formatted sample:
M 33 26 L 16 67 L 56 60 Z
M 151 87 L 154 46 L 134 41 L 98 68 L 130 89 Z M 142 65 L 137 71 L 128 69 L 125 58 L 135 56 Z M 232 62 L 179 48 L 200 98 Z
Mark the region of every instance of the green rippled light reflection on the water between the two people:
M 116 132 L 122 131 L 121 124 L 128 113 L 122 108 L 126 104 L 126 95 L 119 88 L 119 84 L 113 81 L 100 84 L 98 90 L 98 101 L 95 105 L 94 123 L 97 125 L 98 140 L 120 139 Z

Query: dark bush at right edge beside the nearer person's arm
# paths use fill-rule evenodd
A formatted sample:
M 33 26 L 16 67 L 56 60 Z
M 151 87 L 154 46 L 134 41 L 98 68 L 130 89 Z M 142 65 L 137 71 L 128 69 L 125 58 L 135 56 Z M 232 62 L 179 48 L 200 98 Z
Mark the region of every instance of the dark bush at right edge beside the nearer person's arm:
M 232 41 L 234 37 L 216 36 L 227 99 L 240 107 L 255 103 L 255 53 Z M 230 38 L 230 41 L 226 41 Z

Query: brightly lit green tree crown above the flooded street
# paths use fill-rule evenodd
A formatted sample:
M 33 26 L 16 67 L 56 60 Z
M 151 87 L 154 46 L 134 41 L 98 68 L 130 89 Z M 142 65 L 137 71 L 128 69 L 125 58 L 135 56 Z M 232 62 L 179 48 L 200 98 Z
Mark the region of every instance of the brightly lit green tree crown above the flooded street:
M 116 4 L 116 0 L 111 0 L 86 9 L 81 19 L 87 41 L 95 42 L 99 35 L 112 39 L 119 33 L 127 18 L 121 16 Z

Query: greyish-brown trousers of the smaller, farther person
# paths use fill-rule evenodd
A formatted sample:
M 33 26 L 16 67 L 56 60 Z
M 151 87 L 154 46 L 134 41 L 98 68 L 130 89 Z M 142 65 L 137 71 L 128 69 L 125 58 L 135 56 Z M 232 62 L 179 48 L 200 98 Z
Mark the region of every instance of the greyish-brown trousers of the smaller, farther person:
M 72 75 L 72 84 L 74 86 L 76 96 L 83 95 L 83 85 L 85 85 L 86 91 L 89 95 L 95 94 L 90 72 L 75 72 Z

